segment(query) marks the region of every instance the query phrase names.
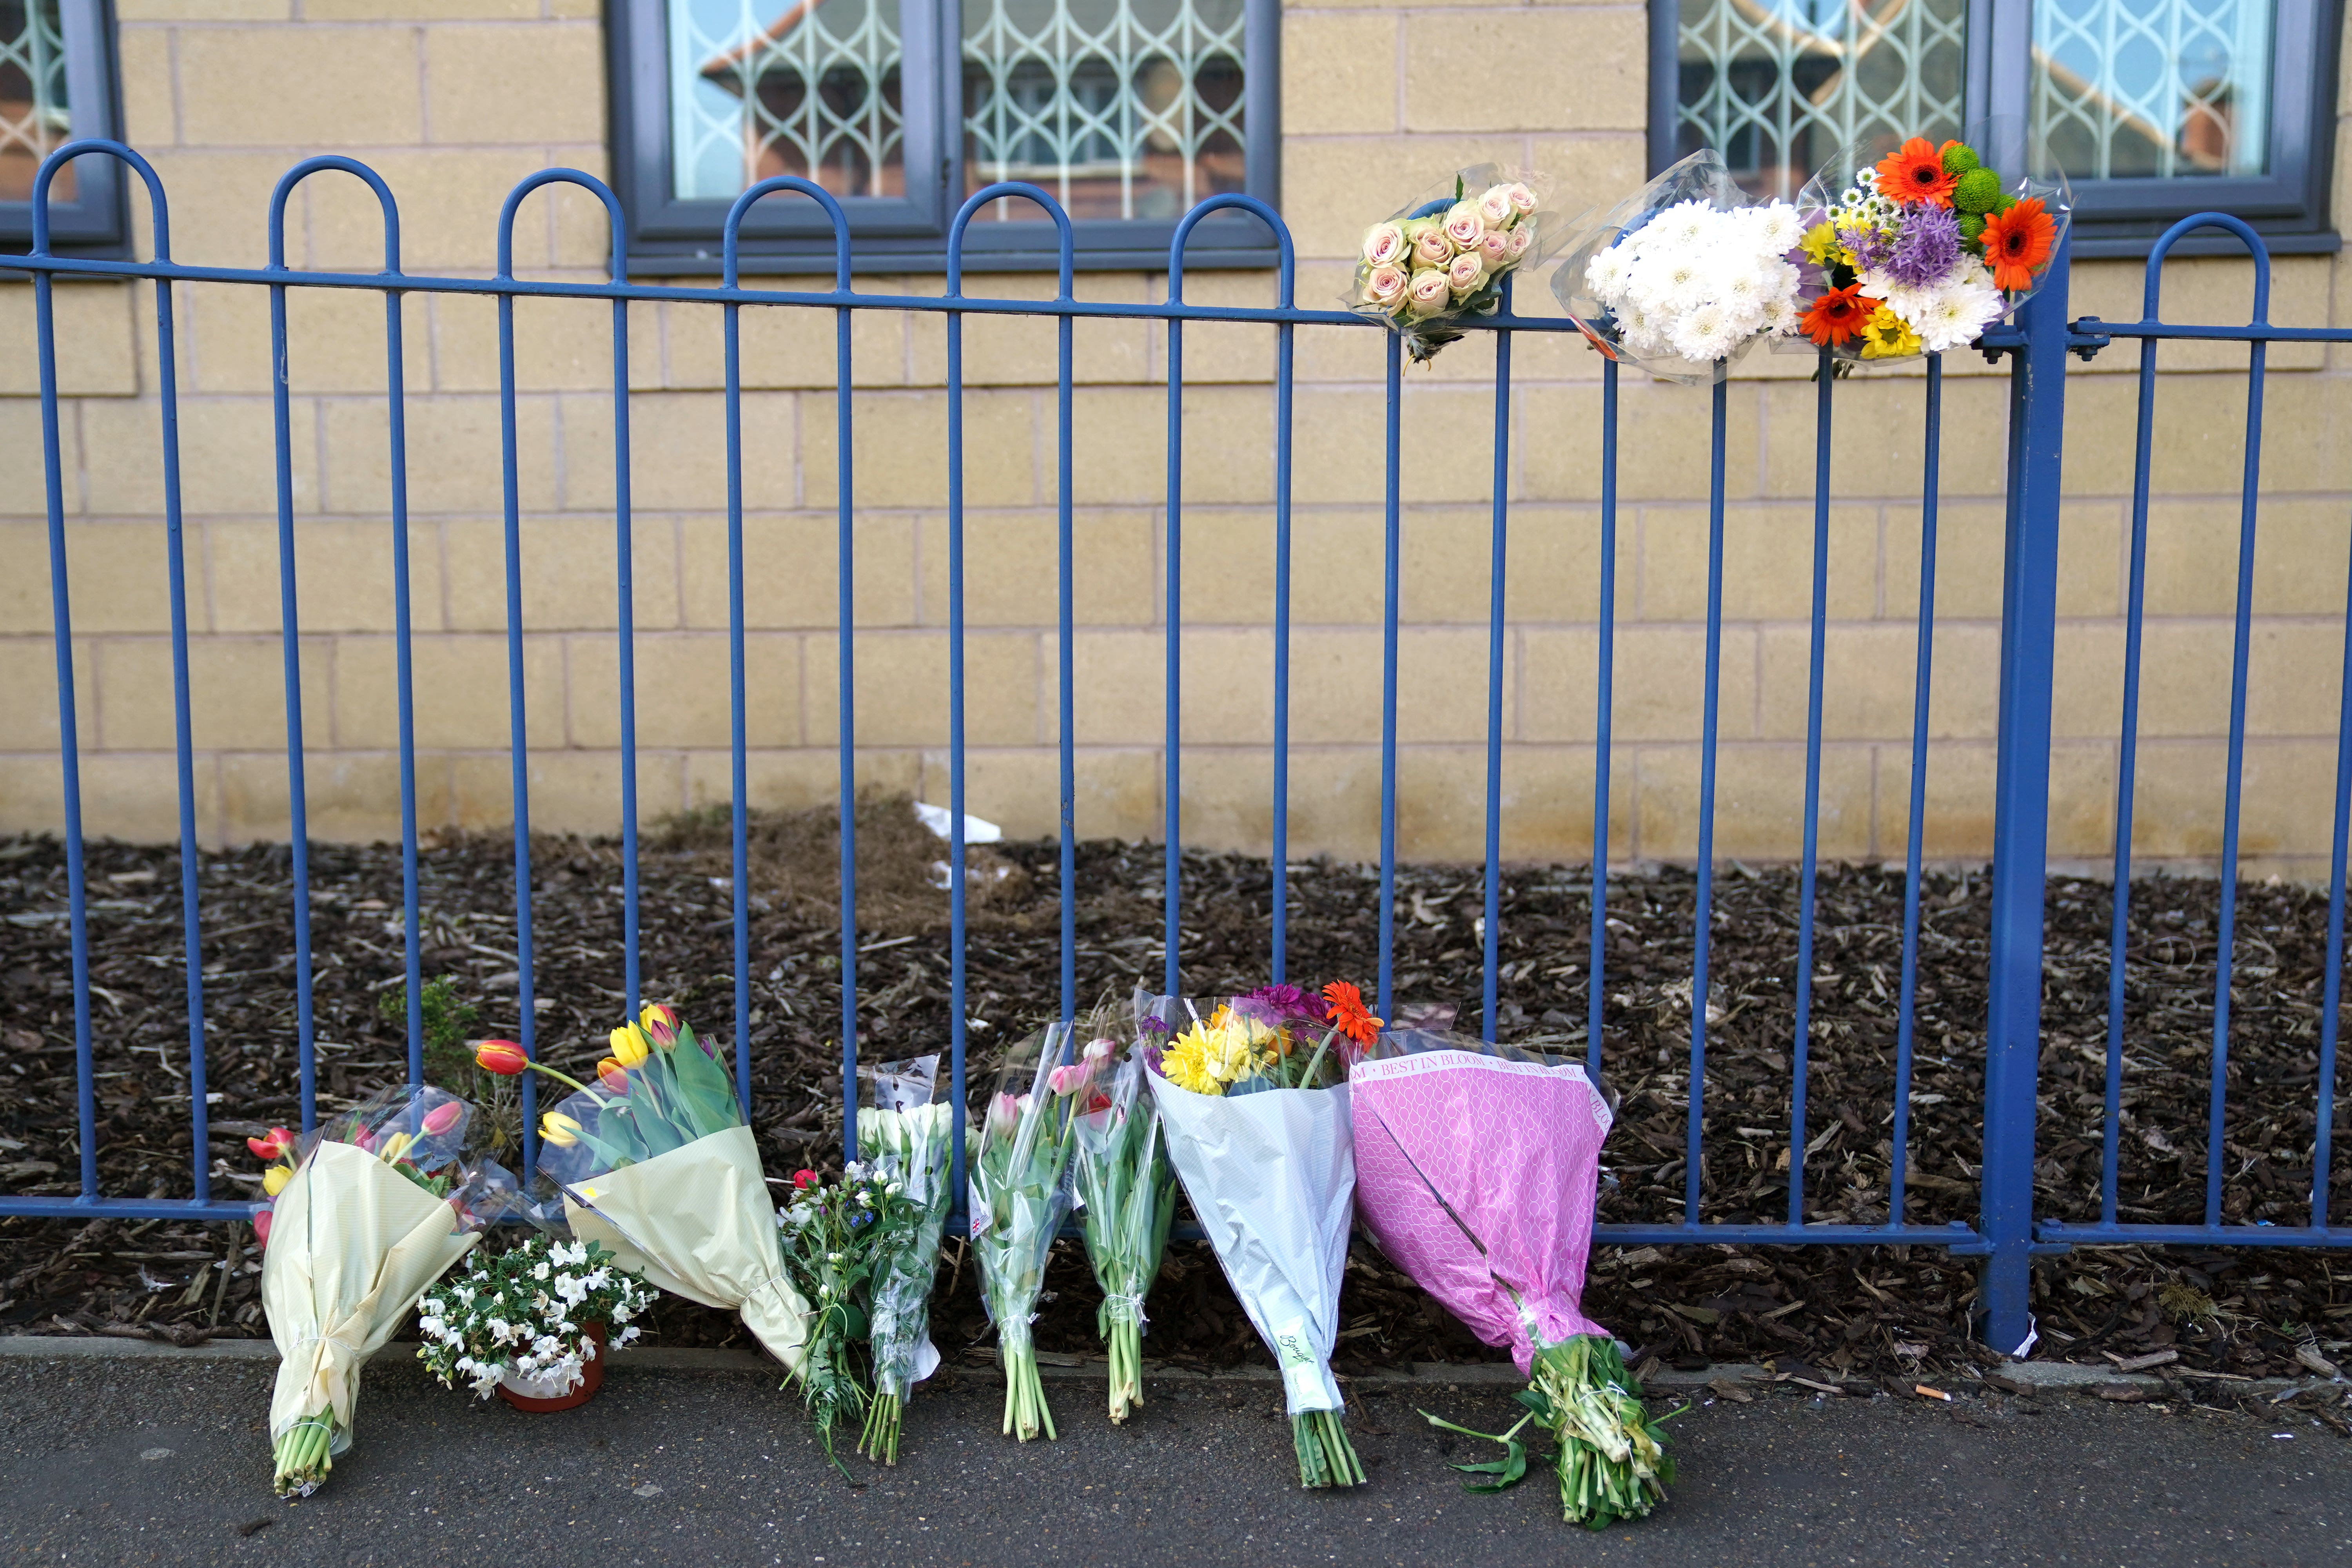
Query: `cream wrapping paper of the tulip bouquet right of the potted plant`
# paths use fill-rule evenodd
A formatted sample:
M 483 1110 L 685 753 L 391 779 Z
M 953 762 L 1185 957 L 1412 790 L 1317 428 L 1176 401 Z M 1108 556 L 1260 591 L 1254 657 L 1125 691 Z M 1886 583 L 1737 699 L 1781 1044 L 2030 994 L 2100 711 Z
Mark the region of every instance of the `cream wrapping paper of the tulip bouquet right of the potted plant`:
M 564 1185 L 564 1218 L 623 1269 L 673 1295 L 739 1312 L 795 1378 L 809 1302 L 783 1276 L 776 1201 L 748 1126 L 729 1126 L 619 1171 Z

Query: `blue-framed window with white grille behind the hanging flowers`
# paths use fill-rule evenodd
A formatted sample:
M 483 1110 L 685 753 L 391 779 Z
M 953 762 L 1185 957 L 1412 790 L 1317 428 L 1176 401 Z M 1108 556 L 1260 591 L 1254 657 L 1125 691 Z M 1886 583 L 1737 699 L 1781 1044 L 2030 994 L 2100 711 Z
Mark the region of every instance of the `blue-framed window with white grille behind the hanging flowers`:
M 1651 167 L 1712 146 L 1795 195 L 1846 143 L 1966 132 L 2067 176 L 2077 256 L 2201 209 L 2331 252 L 2340 26 L 2328 0 L 1651 0 Z

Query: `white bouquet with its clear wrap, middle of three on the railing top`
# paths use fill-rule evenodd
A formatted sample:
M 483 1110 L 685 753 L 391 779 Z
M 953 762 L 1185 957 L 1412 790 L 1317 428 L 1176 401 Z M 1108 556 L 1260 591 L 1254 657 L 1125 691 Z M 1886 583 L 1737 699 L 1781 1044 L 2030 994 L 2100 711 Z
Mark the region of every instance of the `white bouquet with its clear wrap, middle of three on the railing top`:
M 1804 223 L 1733 183 L 1700 148 L 1583 230 L 1552 294 L 1611 360 L 1661 381 L 1722 381 L 1757 343 L 1797 329 Z

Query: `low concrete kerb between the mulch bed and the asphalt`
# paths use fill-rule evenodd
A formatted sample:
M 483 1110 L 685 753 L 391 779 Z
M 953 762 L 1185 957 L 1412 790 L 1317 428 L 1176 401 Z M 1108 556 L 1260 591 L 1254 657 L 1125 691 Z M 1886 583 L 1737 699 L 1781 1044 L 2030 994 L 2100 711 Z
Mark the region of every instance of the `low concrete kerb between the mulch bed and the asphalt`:
M 386 1345 L 379 1354 L 393 1361 L 407 1361 L 416 1354 L 412 1342 Z M 160 1340 L 134 1340 L 115 1335 L 0 1335 L 0 1359 L 26 1356 L 26 1359 L 49 1359 L 49 1361 L 179 1361 L 186 1366 L 219 1363 L 219 1361 L 275 1361 L 278 1345 L 270 1340 L 207 1340 L 202 1345 L 165 1345 Z M 760 1373 L 776 1375 L 781 1368 L 771 1356 L 757 1349 L 673 1349 L 666 1345 L 642 1345 L 623 1356 L 614 1356 L 614 1371 L 644 1371 L 644 1373 Z M 962 1356 L 948 1363 L 955 1373 L 995 1373 L 995 1356 Z M 1037 1373 L 1047 1380 L 1089 1382 L 1105 1375 L 1105 1363 L 1101 1356 L 1073 1356 L 1065 1352 L 1040 1352 Z M 1279 1385 L 1282 1375 L 1270 1366 L 1232 1366 L 1221 1371 L 1195 1371 L 1185 1366 L 1164 1366 L 1155 1361 L 1143 1363 L 1143 1375 L 1160 1385 L 1235 1385 L 1235 1382 L 1268 1382 Z M 2286 1399 L 2288 1394 L 2303 1394 L 2314 1387 L 2326 1387 L 2326 1378 L 2234 1378 L 2230 1373 L 2199 1373 L 2180 1368 L 2176 1380 L 2199 1382 L 2230 1394 L 2270 1394 L 2274 1399 Z M 1510 1361 L 1414 1361 L 1409 1368 L 1381 1368 L 1374 1373 L 1357 1373 L 1341 1378 L 1352 1387 L 1364 1392 L 1397 1392 L 1404 1387 L 1442 1389 L 1442 1387 L 1519 1387 L 1524 1378 L 1519 1368 Z M 1693 1371 L 1661 1368 L 1644 1380 L 1644 1387 L 1661 1394 L 1686 1394 L 1698 1396 L 1717 1385 L 1733 1385 L 1743 1389 L 1762 1392 L 1773 1382 L 1788 1382 L 1783 1373 L 1769 1366 L 1757 1366 L 1752 1361 L 1731 1361 L 1722 1366 L 1703 1366 Z M 2157 1378 L 2152 1373 L 2117 1373 L 2100 1366 L 2079 1366 L 2072 1361 L 2011 1361 L 1985 1373 L 1966 1373 L 1952 1380 L 1955 1387 L 1945 1389 L 1955 1399 L 1980 1396 L 1983 1389 L 1999 1389 L 2004 1394 L 2089 1394 L 2098 1399 L 2122 1399 L 2122 1401 L 2150 1401 L 2176 1394 L 2176 1382 Z M 2340 1380 L 2338 1380 L 2340 1382 Z M 1860 1385 L 1849 1385 L 1858 1389 Z M 1823 1389 L 1823 1385 L 1804 1385 L 1804 1389 Z

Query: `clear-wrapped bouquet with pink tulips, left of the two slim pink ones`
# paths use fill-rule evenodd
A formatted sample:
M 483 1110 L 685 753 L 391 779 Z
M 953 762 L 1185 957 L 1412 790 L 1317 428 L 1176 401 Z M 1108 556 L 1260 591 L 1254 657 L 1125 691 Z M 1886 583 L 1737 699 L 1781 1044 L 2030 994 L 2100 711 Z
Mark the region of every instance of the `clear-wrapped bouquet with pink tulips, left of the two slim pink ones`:
M 1004 1432 L 1023 1443 L 1054 1432 L 1037 1380 L 1030 1321 L 1044 1288 L 1054 1237 L 1070 1213 L 1075 1100 L 1084 1067 L 1070 1056 L 1073 1030 L 1047 1025 L 1016 1044 L 997 1072 L 971 1147 L 971 1251 L 981 1260 L 981 1305 L 997 1326 L 1004 1363 Z M 1021 1086 L 1025 1093 L 1014 1093 Z

